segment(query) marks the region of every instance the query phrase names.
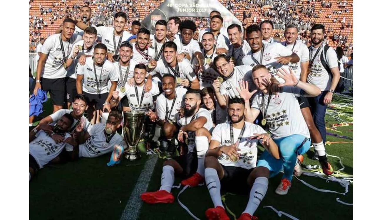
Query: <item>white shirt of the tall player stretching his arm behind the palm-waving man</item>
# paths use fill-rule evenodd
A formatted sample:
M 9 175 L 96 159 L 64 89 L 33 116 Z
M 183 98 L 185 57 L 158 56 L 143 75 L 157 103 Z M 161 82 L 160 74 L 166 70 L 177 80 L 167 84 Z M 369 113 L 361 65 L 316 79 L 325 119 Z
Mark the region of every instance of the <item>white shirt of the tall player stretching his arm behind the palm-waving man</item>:
M 279 56 L 290 56 L 292 51 L 283 46 L 281 43 L 263 43 L 264 53 L 261 54 L 261 50 L 256 53 L 249 51 L 246 56 L 243 58 L 243 63 L 245 65 L 256 66 L 256 61 L 268 68 L 269 73 L 272 74 L 280 83 L 285 82 L 281 77 L 277 75 L 278 68 L 283 68 L 288 70 L 288 65 L 283 65 L 277 63 L 276 57 Z M 261 57 L 262 56 L 262 57 Z

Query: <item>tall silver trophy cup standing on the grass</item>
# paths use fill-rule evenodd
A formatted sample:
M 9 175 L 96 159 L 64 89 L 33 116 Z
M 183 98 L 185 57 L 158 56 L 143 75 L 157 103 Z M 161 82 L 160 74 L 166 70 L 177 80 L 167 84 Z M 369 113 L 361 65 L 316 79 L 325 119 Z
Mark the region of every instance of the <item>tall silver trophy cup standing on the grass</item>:
M 125 151 L 125 158 L 130 161 L 141 158 L 141 154 L 137 151 L 136 146 L 141 140 L 144 132 L 144 112 L 127 111 L 123 119 L 123 135 L 125 137 L 128 148 Z

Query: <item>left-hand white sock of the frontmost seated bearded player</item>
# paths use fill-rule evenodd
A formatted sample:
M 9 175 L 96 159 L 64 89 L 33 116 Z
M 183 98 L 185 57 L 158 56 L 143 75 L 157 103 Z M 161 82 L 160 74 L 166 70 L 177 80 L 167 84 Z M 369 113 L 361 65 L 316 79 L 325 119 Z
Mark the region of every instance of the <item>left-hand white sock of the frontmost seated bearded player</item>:
M 210 196 L 215 208 L 217 206 L 224 208 L 222 198 L 220 196 L 220 180 L 219 176 L 217 175 L 217 171 L 213 168 L 207 167 L 205 170 L 204 178 L 206 179 L 206 185 L 208 191 L 210 192 Z

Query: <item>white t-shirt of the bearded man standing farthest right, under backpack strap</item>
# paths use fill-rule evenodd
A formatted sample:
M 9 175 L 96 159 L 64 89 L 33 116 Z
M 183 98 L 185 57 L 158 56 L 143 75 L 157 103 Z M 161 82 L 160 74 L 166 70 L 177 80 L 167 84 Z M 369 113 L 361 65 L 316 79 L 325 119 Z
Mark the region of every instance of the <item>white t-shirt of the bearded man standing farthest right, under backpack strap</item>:
M 44 43 L 45 45 L 45 43 Z M 314 55 L 316 54 L 317 50 L 320 49 L 320 51 L 317 53 L 316 58 L 314 58 L 311 65 L 310 72 L 308 74 L 307 81 L 311 84 L 316 85 L 318 88 L 320 88 L 321 91 L 326 91 L 330 89 L 330 85 L 332 84 L 332 73 L 328 73 L 324 66 L 321 63 L 321 53 L 324 52 L 324 43 L 322 43 L 322 47 L 314 48 L 312 47 L 309 51 L 310 53 L 310 59 L 313 59 Z M 337 53 L 333 50 L 333 48 L 329 48 L 326 54 L 326 63 L 329 66 L 329 68 L 338 67 L 337 63 Z

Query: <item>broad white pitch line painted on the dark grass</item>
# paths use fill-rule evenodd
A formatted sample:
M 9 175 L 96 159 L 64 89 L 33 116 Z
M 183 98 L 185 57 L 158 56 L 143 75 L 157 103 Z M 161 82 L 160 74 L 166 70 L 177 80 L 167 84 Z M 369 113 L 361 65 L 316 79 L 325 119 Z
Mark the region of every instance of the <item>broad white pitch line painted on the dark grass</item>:
M 150 155 L 149 159 L 144 165 L 144 169 L 139 175 L 135 184 L 133 192 L 130 195 L 129 201 L 123 210 L 121 220 L 135 220 L 139 217 L 139 210 L 141 210 L 142 201 L 141 194 L 146 192 L 149 181 L 151 180 L 152 172 L 154 171 L 155 164 L 157 163 L 158 156 Z

